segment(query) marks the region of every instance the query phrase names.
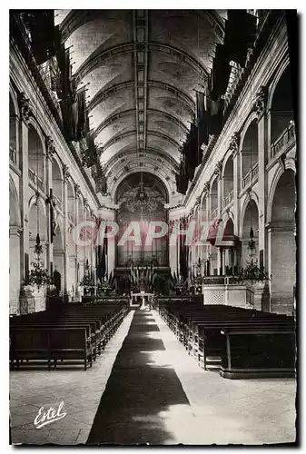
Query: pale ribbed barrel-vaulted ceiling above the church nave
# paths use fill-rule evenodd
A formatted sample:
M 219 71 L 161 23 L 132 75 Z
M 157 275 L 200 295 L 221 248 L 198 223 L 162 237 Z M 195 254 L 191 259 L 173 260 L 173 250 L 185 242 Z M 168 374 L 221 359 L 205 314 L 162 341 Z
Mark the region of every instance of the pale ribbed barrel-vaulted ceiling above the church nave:
M 222 42 L 224 11 L 55 10 L 109 187 L 143 169 L 175 194 L 195 91 Z

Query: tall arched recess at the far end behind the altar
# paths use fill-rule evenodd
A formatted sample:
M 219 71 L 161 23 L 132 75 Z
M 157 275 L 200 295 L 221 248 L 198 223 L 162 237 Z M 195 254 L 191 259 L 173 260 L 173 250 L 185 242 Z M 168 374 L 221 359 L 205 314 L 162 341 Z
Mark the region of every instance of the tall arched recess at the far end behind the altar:
M 118 187 L 116 203 L 119 205 L 117 222 L 119 235 L 116 247 L 116 264 L 125 267 L 131 261 L 135 266 L 168 266 L 168 235 L 153 238 L 145 244 L 150 222 L 167 222 L 168 214 L 164 204 L 168 202 L 168 193 L 161 182 L 151 173 L 133 173 L 128 175 Z M 141 242 L 137 242 L 137 232 L 131 232 L 128 241 L 120 242 L 123 232 L 131 222 L 137 222 L 140 228 Z M 158 228 L 156 231 L 158 232 Z

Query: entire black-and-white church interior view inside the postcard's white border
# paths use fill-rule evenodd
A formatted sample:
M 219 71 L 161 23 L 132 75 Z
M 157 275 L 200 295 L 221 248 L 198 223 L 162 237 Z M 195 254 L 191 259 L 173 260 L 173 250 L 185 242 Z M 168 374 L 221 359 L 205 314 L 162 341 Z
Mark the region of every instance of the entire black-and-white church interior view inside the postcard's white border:
M 294 10 L 11 10 L 10 442 L 296 435 Z

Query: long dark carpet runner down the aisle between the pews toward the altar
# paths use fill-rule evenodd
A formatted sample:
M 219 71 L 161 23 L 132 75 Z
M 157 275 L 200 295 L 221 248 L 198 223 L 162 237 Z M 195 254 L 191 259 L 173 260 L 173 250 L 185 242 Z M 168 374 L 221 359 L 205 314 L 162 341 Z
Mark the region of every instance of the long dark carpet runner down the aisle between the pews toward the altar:
M 87 444 L 178 443 L 167 421 L 174 418 L 176 428 L 183 430 L 187 415 L 192 415 L 191 407 L 167 364 L 156 321 L 149 311 L 135 311 Z

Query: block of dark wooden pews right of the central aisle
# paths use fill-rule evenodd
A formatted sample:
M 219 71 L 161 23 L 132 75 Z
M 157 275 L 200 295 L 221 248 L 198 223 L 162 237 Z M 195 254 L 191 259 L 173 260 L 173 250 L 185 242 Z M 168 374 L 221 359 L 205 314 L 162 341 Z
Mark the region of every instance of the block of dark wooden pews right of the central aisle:
M 205 370 L 228 379 L 295 376 L 293 317 L 199 301 L 158 301 L 158 311 Z

